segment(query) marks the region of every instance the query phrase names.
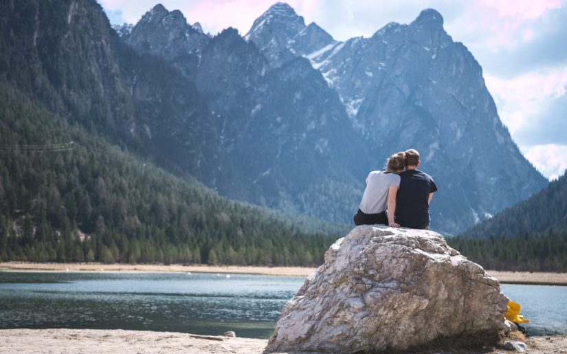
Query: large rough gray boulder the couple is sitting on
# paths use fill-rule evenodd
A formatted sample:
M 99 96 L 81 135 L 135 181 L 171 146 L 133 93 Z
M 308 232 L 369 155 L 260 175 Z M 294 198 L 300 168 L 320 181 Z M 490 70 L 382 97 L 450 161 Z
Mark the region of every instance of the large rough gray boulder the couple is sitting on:
M 440 234 L 359 226 L 287 302 L 266 350 L 408 349 L 498 331 L 507 302 L 498 280 Z

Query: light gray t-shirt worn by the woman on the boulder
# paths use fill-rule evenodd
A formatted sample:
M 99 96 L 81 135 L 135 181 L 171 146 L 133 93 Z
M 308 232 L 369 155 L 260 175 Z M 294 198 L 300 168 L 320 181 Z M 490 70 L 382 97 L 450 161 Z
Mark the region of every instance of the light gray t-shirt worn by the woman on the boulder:
M 365 214 L 378 214 L 388 208 L 388 188 L 399 187 L 400 177 L 395 173 L 372 171 L 366 177 L 366 189 L 360 202 Z

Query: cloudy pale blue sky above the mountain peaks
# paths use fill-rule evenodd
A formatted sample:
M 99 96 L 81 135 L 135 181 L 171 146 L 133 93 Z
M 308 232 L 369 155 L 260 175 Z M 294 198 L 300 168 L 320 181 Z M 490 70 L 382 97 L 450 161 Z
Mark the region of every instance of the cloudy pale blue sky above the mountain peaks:
M 135 24 L 160 1 L 205 32 L 242 35 L 275 0 L 98 0 L 111 23 Z M 482 66 L 498 114 L 527 159 L 548 179 L 567 169 L 567 0 L 289 0 L 307 24 L 335 39 L 372 36 L 410 23 L 425 8 Z

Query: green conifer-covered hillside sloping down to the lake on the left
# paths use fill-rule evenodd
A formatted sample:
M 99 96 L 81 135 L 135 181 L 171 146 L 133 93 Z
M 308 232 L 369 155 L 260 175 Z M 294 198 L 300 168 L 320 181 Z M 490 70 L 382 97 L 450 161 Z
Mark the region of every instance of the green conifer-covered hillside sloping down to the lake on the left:
M 142 162 L 5 82 L 0 107 L 3 261 L 318 265 L 336 239 Z

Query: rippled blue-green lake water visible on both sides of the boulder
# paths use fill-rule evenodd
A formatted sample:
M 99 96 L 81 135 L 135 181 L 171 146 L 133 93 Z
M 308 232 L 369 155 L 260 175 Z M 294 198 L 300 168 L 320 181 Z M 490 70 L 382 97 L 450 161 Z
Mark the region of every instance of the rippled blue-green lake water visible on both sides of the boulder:
M 269 338 L 303 278 L 0 272 L 0 328 L 136 329 Z M 502 285 L 533 335 L 567 334 L 567 287 Z

